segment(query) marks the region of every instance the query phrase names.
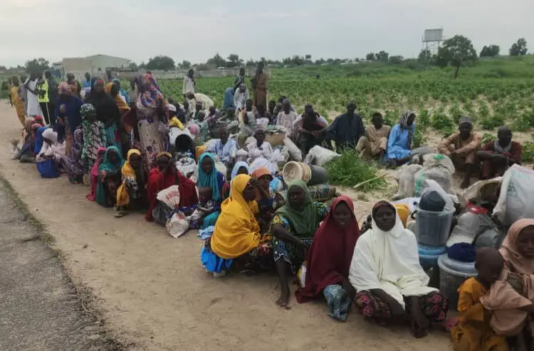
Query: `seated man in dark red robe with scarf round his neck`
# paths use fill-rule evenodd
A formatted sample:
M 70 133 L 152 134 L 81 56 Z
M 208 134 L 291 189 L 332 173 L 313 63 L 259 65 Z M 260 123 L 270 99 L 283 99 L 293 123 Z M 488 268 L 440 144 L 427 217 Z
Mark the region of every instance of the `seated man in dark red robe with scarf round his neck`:
M 514 163 L 521 164 L 521 145 L 512 141 L 512 131 L 508 126 L 501 126 L 497 139 L 489 141 L 476 157 L 482 161 L 481 180 L 503 175 Z

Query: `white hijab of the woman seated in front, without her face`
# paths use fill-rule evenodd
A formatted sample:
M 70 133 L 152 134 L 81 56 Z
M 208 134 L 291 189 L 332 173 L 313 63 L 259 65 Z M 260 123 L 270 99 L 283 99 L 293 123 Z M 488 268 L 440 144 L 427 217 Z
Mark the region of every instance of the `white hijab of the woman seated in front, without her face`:
M 380 229 L 375 222 L 380 207 L 389 207 L 395 212 L 395 225 L 389 231 Z M 403 296 L 422 296 L 436 291 L 427 286 L 429 276 L 419 263 L 415 234 L 404 229 L 397 209 L 387 201 L 377 202 L 372 209 L 372 228 L 356 243 L 349 279 L 357 291 L 382 289 L 403 308 Z

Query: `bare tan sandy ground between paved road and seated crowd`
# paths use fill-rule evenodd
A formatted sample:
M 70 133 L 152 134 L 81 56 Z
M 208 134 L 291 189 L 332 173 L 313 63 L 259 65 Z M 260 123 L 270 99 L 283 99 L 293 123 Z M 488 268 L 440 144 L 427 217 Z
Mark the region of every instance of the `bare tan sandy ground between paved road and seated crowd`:
M 438 330 L 415 340 L 409 328 L 380 328 L 355 311 L 338 323 L 323 301 L 300 305 L 292 297 L 290 311 L 277 308 L 272 274 L 214 279 L 201 266 L 194 232 L 172 239 L 142 215 L 117 219 L 85 200 L 83 185 L 41 179 L 35 165 L 11 161 L 8 141 L 19 136 L 20 124 L 3 102 L 0 117 L 1 174 L 56 238 L 73 281 L 93 290 L 95 306 L 117 335 L 135 342 L 132 348 L 449 350 L 448 335 Z

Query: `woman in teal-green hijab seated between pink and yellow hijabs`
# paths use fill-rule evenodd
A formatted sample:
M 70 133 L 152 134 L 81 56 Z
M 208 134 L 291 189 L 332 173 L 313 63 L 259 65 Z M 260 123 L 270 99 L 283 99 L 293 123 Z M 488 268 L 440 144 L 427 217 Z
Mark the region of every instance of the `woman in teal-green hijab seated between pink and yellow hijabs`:
M 112 207 L 117 202 L 117 188 L 120 185 L 120 168 L 124 164 L 120 151 L 110 146 L 105 151 L 104 160 L 98 166 L 98 186 L 96 202 L 104 207 Z

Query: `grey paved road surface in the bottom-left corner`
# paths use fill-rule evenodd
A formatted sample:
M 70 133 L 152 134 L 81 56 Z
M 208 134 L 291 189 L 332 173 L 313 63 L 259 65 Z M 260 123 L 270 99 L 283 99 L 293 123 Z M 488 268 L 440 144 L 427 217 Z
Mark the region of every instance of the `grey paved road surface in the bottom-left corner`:
M 113 350 L 2 183 L 0 208 L 0 350 Z

